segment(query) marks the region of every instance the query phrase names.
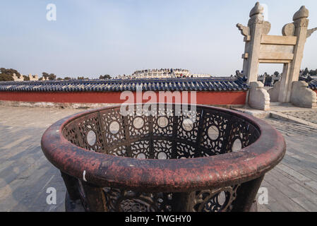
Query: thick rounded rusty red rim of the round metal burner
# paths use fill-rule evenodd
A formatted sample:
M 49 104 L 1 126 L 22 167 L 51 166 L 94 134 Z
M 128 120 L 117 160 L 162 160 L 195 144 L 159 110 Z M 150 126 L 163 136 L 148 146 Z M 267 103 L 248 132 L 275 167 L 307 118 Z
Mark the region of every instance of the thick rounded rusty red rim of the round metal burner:
M 119 105 L 93 109 L 57 121 L 42 136 L 44 155 L 61 171 L 91 184 L 143 191 L 164 189 L 170 192 L 246 182 L 261 177 L 285 155 L 285 140 L 270 124 L 233 110 L 202 105 L 197 107 L 233 114 L 249 121 L 261 131 L 261 136 L 237 153 L 179 160 L 138 160 L 85 150 L 62 135 L 64 126 L 74 119 L 116 107 Z

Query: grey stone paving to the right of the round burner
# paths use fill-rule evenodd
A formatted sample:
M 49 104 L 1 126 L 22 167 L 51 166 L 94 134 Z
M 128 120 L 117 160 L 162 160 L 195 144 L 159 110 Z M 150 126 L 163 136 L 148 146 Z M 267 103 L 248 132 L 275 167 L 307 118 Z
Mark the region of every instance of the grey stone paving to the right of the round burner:
M 317 211 L 317 129 L 292 122 L 265 119 L 285 137 L 287 153 L 265 174 L 268 188 L 263 211 Z

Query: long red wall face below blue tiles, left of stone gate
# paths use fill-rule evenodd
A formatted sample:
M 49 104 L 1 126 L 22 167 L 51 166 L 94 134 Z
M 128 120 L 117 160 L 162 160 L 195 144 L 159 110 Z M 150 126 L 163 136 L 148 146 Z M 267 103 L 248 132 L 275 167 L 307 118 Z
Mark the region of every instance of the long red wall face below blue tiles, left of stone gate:
M 190 93 L 190 92 L 189 92 Z M 133 92 L 134 96 L 135 92 Z M 155 92 L 157 95 L 158 92 Z M 49 92 L 0 92 L 0 100 L 22 102 L 61 102 L 61 103 L 123 103 L 120 100 L 121 92 L 72 92 L 72 93 L 49 93 Z M 244 105 L 246 91 L 239 92 L 197 92 L 198 105 Z M 183 101 L 183 100 L 182 100 Z M 143 100 L 148 102 L 148 100 Z M 151 102 L 159 102 L 157 100 Z M 173 100 L 173 102 L 175 102 Z M 184 101 L 183 101 L 184 102 Z M 190 95 L 189 95 L 189 101 Z

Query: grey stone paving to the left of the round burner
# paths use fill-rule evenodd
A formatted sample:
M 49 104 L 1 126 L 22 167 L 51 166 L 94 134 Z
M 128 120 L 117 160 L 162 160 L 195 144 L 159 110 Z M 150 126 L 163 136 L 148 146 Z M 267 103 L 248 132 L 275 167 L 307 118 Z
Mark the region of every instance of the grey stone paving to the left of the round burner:
M 66 188 L 40 140 L 55 121 L 83 110 L 0 107 L 0 211 L 64 211 Z M 56 205 L 46 191 L 54 187 Z

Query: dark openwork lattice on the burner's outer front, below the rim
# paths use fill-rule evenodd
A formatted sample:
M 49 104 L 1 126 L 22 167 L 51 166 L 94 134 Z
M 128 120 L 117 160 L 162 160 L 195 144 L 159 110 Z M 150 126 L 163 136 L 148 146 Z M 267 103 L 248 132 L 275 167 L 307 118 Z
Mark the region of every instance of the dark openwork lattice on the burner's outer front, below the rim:
M 103 189 L 107 210 L 110 212 L 171 212 L 179 210 L 179 203 L 187 198 L 186 211 L 226 212 L 232 210 L 232 202 L 237 198 L 239 185 L 221 189 L 193 191 L 179 196 L 173 193 L 146 193 L 114 189 Z

